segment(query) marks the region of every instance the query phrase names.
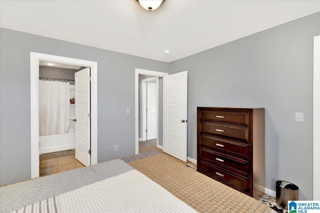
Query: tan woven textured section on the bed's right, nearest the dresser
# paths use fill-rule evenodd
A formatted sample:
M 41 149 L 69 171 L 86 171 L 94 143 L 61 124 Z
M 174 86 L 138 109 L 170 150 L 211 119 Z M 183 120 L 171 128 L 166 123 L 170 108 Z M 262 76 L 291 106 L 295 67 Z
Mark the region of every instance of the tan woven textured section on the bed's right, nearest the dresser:
M 200 213 L 269 213 L 271 209 L 160 153 L 128 163 Z

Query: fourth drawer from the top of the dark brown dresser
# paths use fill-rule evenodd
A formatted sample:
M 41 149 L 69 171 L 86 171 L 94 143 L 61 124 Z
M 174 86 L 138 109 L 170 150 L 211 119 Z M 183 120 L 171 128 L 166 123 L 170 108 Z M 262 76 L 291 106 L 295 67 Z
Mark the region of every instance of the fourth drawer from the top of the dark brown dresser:
M 206 161 L 212 165 L 232 171 L 236 174 L 247 176 L 249 172 L 249 163 L 242 159 L 223 155 L 205 148 L 200 148 L 200 160 Z

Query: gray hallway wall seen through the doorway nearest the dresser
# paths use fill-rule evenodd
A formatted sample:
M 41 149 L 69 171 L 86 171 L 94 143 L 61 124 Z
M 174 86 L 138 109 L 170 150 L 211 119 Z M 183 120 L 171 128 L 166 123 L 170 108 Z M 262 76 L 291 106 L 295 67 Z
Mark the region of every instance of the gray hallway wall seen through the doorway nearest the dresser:
M 151 77 L 154 77 L 152 75 L 142 75 L 142 74 L 139 74 L 139 138 L 142 138 L 142 122 L 141 122 L 141 117 L 142 117 L 142 109 L 141 109 L 141 90 L 142 90 L 142 80 L 143 79 L 146 79 L 146 78 L 151 78 Z M 162 115 L 163 115 L 163 78 L 162 77 L 158 77 L 158 84 L 159 84 L 159 91 L 158 91 L 158 100 L 159 100 L 159 103 L 158 103 L 158 106 L 159 106 L 159 109 L 158 109 L 158 117 L 159 117 L 159 120 L 158 120 L 158 128 L 159 128 L 159 138 L 158 138 L 158 142 L 159 142 L 159 145 L 162 146 Z

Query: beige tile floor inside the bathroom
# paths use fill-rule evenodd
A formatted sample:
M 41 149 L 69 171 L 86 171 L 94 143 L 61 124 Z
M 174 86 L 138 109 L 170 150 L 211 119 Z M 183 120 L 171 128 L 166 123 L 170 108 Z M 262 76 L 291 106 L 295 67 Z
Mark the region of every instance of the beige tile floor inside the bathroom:
M 68 155 L 58 158 L 52 158 L 40 161 L 40 168 L 54 166 L 51 175 L 59 172 L 73 170 L 76 168 L 84 167 L 74 155 Z

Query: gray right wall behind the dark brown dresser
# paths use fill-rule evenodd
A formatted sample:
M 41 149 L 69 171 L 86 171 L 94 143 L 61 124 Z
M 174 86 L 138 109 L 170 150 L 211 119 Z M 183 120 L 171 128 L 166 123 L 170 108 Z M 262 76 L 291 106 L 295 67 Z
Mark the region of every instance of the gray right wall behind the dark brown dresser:
M 187 156 L 196 159 L 197 106 L 265 108 L 265 187 L 299 187 L 312 200 L 313 36 L 320 13 L 169 63 L 188 71 Z M 304 122 L 294 122 L 294 112 Z

